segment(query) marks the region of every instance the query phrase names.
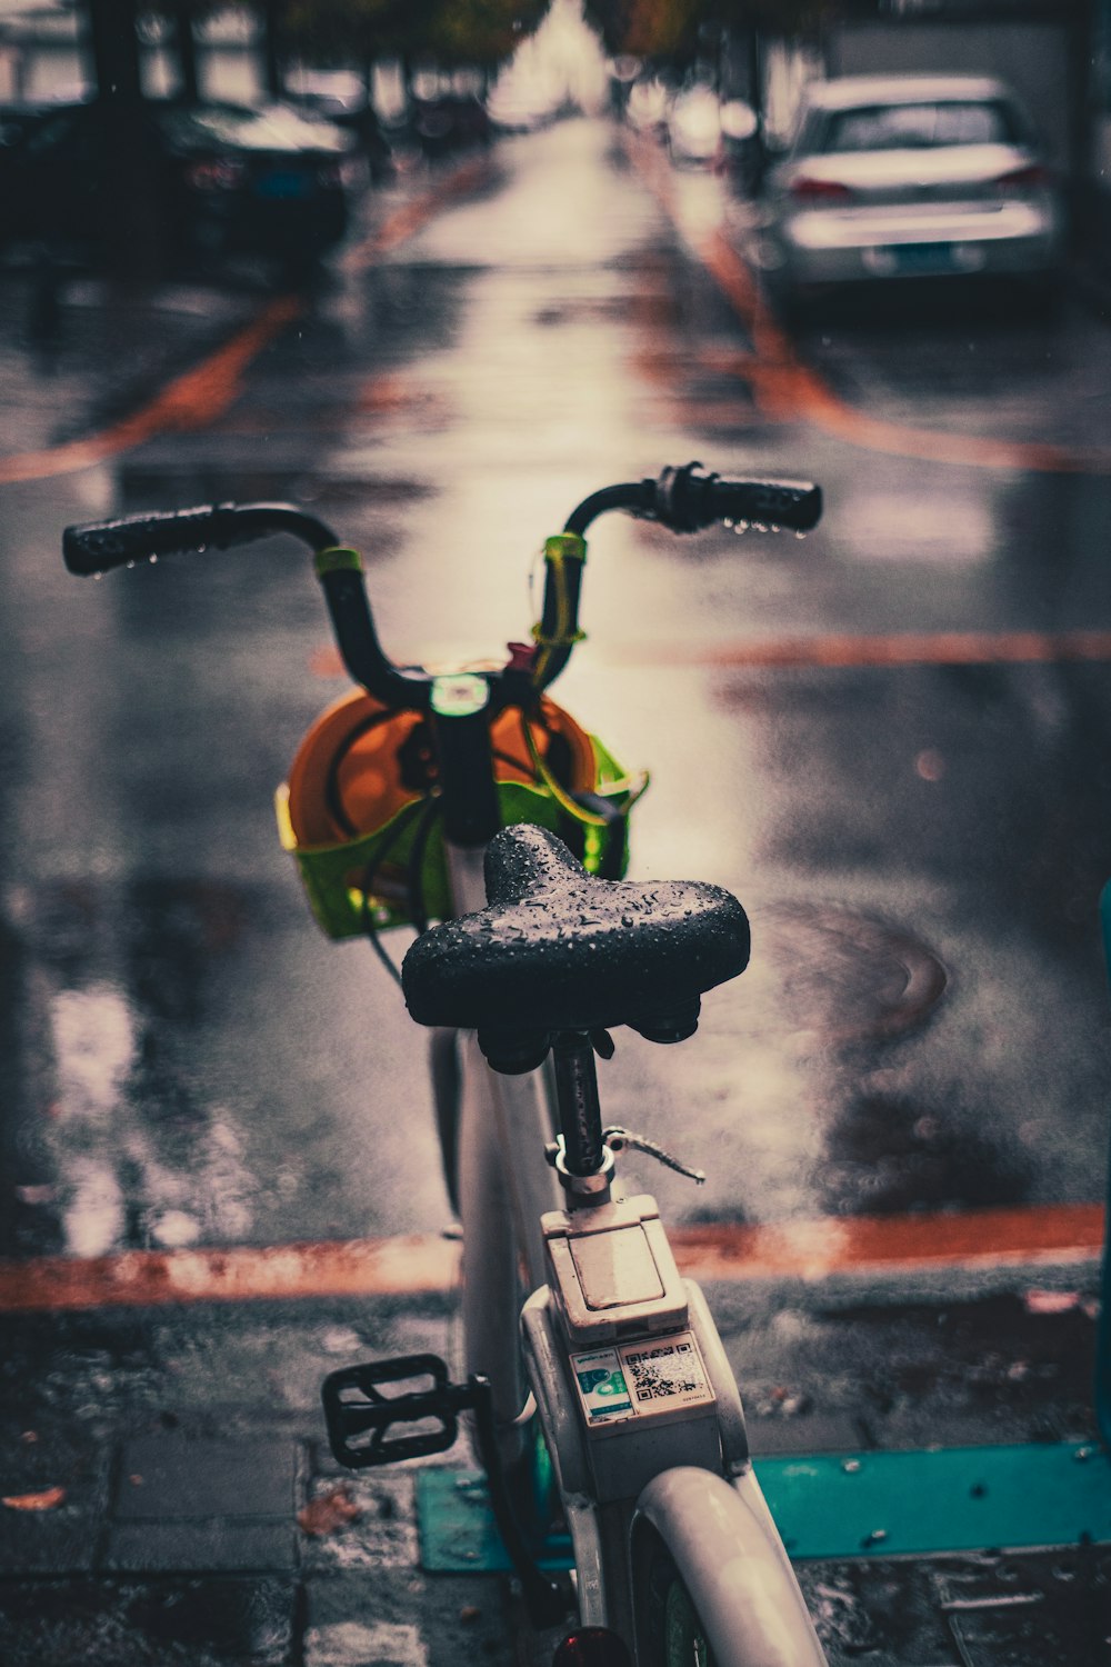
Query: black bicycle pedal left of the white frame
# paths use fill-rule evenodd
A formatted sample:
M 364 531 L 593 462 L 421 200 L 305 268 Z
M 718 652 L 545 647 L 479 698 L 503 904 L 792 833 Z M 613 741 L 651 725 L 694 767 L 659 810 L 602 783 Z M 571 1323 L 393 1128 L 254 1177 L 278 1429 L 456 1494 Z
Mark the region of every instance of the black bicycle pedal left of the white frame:
M 426 1380 L 423 1387 L 396 1394 L 383 1394 L 380 1387 L 421 1379 Z M 460 1434 L 460 1412 L 475 1405 L 475 1385 L 448 1382 L 448 1369 L 438 1355 L 396 1355 L 330 1372 L 321 1399 L 335 1459 L 348 1470 L 365 1470 L 446 1452 Z M 405 1425 L 410 1425 L 408 1435 Z

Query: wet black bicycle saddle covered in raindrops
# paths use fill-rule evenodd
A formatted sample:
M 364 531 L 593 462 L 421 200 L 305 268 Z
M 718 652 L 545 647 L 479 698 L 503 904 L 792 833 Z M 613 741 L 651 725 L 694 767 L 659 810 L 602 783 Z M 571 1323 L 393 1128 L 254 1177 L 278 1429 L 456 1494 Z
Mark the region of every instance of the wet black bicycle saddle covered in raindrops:
M 556 1030 L 680 1042 L 748 965 L 748 917 L 718 885 L 598 880 L 530 823 L 493 837 L 485 872 L 486 909 L 418 937 L 401 985 L 418 1024 L 478 1030 L 500 1070 L 531 1069 Z

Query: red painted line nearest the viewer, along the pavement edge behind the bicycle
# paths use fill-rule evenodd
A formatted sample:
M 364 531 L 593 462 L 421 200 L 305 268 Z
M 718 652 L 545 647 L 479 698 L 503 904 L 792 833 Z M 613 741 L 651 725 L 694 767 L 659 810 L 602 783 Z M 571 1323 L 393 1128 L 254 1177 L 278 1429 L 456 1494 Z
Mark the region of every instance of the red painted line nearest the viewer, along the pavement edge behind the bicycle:
M 1088 1264 L 1103 1207 L 1041 1205 L 964 1214 L 836 1217 L 768 1227 L 678 1227 L 680 1269 L 700 1280 L 805 1279 Z M 293 1297 L 415 1297 L 448 1290 L 460 1247 L 436 1234 L 273 1249 L 132 1250 L 0 1262 L 0 1314 L 160 1307 Z

